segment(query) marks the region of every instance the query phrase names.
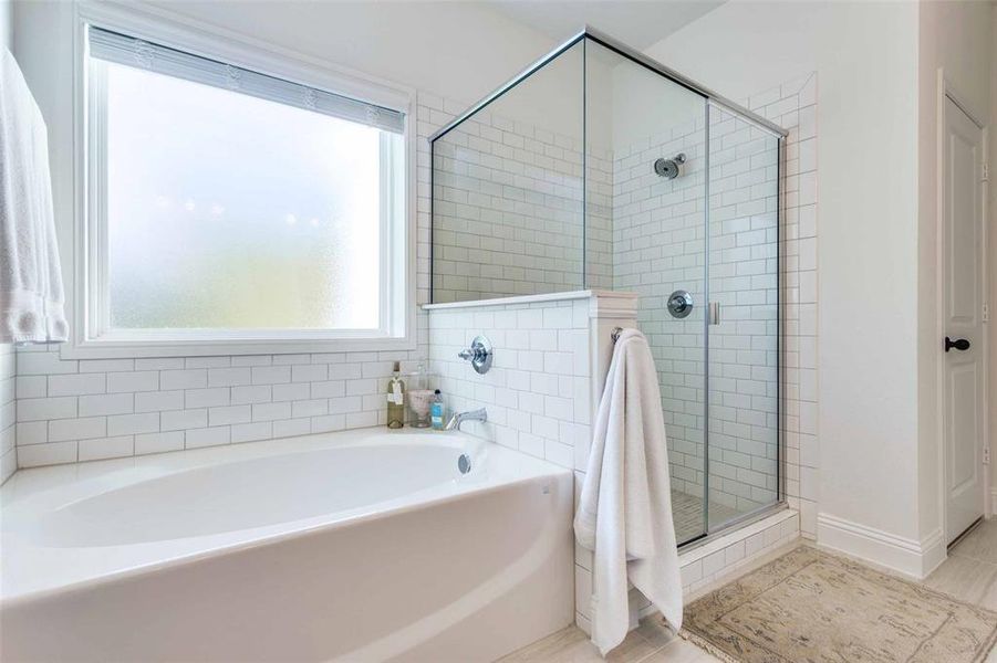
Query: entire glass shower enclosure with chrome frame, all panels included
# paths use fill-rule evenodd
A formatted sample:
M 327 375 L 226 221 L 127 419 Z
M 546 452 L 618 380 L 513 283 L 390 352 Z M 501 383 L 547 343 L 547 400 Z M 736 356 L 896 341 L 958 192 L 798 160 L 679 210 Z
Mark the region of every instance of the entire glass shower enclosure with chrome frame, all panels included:
M 430 138 L 434 303 L 638 295 L 681 544 L 782 499 L 785 136 L 585 29 Z

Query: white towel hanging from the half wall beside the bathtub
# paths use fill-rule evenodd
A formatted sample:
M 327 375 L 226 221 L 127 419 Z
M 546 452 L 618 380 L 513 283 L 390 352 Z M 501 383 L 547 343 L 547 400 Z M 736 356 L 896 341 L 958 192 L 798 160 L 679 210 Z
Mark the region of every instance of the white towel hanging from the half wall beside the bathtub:
M 665 421 L 654 358 L 636 329 L 624 330 L 613 349 L 574 535 L 594 551 L 592 642 L 603 655 L 630 627 L 627 579 L 682 628 Z

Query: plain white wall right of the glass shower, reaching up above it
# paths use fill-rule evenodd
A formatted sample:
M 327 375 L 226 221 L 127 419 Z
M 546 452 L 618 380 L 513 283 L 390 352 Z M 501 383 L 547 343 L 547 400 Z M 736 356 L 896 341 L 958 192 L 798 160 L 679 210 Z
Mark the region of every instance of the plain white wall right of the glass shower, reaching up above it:
M 913 3 L 733 1 L 647 50 L 731 98 L 817 71 L 821 513 L 918 538 Z M 847 36 L 845 36 L 847 35 Z M 889 39 L 885 39 L 889 35 Z

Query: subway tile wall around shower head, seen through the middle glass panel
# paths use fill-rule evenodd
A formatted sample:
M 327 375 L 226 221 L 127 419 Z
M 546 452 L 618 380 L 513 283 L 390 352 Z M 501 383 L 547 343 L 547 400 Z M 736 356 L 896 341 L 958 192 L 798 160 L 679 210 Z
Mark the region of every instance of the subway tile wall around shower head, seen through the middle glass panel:
M 658 371 L 672 488 L 698 497 L 700 505 L 706 471 L 704 126 L 705 118 L 698 118 L 619 147 L 612 172 L 613 288 L 640 297 L 637 326 Z M 686 160 L 678 178 L 655 173 L 655 159 L 679 152 Z M 685 318 L 667 311 L 668 296 L 679 288 L 695 302 Z

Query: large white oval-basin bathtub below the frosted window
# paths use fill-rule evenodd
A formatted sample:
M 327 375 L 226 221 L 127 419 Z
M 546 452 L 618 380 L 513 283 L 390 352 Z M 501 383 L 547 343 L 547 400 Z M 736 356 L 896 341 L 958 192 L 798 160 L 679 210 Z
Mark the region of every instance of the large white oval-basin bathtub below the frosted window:
M 573 620 L 571 507 L 569 471 L 459 433 L 23 471 L 0 659 L 492 660 Z

